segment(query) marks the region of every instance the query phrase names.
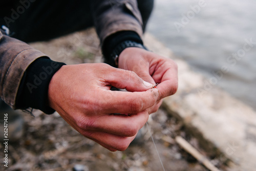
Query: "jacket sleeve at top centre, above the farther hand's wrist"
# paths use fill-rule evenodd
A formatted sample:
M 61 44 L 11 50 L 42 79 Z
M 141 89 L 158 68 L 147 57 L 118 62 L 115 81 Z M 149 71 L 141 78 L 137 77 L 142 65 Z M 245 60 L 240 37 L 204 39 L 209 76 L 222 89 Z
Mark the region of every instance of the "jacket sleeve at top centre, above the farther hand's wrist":
M 106 37 L 119 31 L 134 31 L 142 37 L 142 18 L 137 0 L 94 0 L 91 4 L 101 45 Z

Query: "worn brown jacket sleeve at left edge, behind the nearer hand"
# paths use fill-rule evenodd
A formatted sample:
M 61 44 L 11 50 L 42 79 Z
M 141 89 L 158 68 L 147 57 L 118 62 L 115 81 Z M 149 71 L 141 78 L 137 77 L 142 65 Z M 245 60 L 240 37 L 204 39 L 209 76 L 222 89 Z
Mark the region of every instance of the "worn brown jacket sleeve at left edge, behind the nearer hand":
M 42 56 L 46 55 L 0 30 L 0 96 L 13 109 L 24 72 Z

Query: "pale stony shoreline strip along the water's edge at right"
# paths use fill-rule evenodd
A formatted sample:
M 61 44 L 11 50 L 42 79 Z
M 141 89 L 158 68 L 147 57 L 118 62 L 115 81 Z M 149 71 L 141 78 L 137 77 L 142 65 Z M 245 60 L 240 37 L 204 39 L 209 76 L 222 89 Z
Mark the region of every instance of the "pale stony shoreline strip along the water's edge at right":
M 198 90 L 205 89 L 203 75 L 192 71 L 152 35 L 146 34 L 144 39 L 149 49 L 178 63 L 178 91 L 163 101 L 168 113 L 180 119 L 208 152 L 230 159 L 228 170 L 253 171 L 256 168 L 256 112 L 215 85 L 200 93 Z

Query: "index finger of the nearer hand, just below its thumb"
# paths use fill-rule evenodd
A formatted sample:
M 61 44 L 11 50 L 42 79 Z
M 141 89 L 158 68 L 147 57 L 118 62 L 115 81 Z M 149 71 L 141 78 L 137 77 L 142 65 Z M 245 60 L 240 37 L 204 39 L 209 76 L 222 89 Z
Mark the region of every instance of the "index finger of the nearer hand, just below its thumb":
M 137 114 L 155 104 L 158 100 L 158 90 L 150 89 L 145 92 L 105 90 L 100 98 L 97 105 L 103 113 Z

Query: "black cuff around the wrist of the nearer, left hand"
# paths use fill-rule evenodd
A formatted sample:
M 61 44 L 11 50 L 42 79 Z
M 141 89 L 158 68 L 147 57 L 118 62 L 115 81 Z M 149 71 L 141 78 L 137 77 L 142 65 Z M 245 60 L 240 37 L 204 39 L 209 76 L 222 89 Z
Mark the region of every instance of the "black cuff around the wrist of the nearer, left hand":
M 25 71 L 16 97 L 17 109 L 39 109 L 46 114 L 55 112 L 48 105 L 48 87 L 53 75 L 63 66 L 48 57 L 36 59 Z

